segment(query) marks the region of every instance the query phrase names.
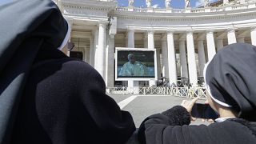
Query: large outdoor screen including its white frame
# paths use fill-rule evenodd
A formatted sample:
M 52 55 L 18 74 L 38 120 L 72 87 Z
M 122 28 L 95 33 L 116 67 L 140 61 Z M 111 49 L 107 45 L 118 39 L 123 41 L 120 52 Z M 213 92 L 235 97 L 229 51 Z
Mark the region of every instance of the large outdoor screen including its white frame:
M 156 79 L 155 50 L 116 48 L 116 80 Z

